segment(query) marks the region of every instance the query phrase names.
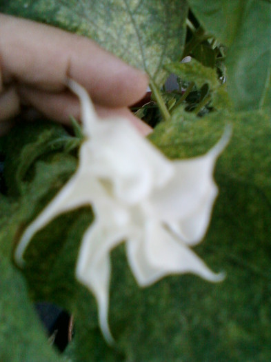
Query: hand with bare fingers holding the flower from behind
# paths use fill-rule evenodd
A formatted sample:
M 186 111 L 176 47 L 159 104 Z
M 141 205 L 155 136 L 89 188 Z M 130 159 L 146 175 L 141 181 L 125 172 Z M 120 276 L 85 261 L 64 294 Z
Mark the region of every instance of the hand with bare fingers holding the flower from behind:
M 150 128 L 128 106 L 139 101 L 148 77 L 97 43 L 52 26 L 0 14 L 0 135 L 21 105 L 70 123 L 80 118 L 79 101 L 66 88 L 70 77 L 85 87 L 100 117 L 122 115 L 142 134 Z

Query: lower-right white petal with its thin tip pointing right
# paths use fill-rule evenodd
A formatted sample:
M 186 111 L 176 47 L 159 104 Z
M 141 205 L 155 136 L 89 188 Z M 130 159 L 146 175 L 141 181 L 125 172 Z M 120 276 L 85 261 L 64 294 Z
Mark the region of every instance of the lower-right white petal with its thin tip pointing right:
M 127 253 L 130 267 L 141 286 L 176 273 L 190 272 L 208 281 L 223 279 L 223 274 L 214 274 L 187 245 L 155 222 L 148 223 L 141 240 L 128 241 Z

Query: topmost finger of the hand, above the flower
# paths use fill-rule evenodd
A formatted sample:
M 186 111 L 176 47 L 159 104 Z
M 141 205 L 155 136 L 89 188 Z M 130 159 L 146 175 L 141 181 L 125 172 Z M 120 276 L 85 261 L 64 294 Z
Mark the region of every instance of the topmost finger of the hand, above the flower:
M 143 97 L 147 76 L 97 43 L 52 26 L 0 14 L 3 81 L 61 91 L 70 77 L 95 103 L 120 107 Z

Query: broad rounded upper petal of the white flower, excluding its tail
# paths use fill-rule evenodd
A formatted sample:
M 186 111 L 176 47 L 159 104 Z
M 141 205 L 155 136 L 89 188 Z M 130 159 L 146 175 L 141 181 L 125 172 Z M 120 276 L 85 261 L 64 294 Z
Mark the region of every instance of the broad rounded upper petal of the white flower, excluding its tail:
M 114 196 L 126 204 L 147 197 L 173 172 L 172 163 L 125 119 L 101 121 L 90 147 L 92 174 L 110 181 Z

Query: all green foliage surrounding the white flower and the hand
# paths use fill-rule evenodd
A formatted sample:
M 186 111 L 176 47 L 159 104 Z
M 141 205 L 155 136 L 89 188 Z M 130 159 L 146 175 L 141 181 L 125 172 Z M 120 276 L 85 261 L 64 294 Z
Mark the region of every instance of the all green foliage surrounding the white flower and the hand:
M 178 63 L 188 3 L 201 25 L 190 49 L 197 61 Z M 188 3 L 0 1 L 2 12 L 91 37 L 146 70 L 158 92 L 165 70 L 197 88 L 207 84 L 203 98 L 214 109 L 205 117 L 178 105 L 180 91 L 164 95 L 172 119 L 159 124 L 150 140 L 171 159 L 207 152 L 225 125 L 232 125 L 230 144 L 215 172 L 220 192 L 212 222 L 196 248 L 210 268 L 226 272 L 225 281 L 211 284 L 197 276 L 169 276 L 139 288 L 123 246 L 118 247 L 112 251 L 112 347 L 101 335 L 93 296 L 74 277 L 81 237 L 94 217 L 90 208 L 62 214 L 38 232 L 26 251 L 26 269 L 12 262 L 22 230 L 77 168 L 79 126 L 72 137 L 48 121 L 21 124 L 0 140 L 6 157 L 6 190 L 0 194 L 1 361 L 270 361 L 271 4 Z M 225 64 L 217 41 L 227 46 Z M 221 85 L 224 66 L 227 82 Z M 46 341 L 32 306 L 35 301 L 54 303 L 74 316 L 74 339 L 62 356 Z

